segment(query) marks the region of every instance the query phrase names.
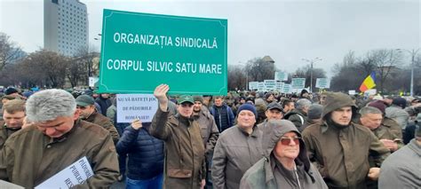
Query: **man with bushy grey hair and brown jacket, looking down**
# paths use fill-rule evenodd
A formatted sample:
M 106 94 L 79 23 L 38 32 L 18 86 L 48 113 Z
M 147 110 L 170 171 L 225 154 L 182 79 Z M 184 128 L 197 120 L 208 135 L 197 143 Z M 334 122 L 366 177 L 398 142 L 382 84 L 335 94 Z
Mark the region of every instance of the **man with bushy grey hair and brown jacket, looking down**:
M 86 157 L 93 176 L 71 185 L 107 188 L 115 183 L 119 171 L 113 140 L 99 125 L 78 119 L 70 93 L 55 89 L 37 92 L 28 98 L 26 111 L 33 124 L 5 142 L 0 179 L 34 188 Z

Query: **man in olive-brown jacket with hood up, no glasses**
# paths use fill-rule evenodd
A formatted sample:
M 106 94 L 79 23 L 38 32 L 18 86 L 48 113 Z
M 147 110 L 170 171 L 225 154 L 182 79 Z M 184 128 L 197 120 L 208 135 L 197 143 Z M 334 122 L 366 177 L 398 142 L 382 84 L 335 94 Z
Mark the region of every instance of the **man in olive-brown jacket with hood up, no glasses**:
M 356 106 L 341 92 L 328 94 L 322 121 L 303 131 L 310 161 L 330 188 L 367 188 L 367 179 L 378 178 L 389 149 L 367 128 L 351 122 Z M 369 168 L 369 155 L 376 167 Z

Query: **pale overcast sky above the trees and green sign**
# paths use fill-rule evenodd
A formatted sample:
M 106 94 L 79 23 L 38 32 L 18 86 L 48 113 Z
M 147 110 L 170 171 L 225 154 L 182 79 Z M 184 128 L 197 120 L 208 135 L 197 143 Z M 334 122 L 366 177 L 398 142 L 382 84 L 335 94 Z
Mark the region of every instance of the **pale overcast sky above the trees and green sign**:
M 0 31 L 27 52 L 44 46 L 44 1 L 0 0 Z M 228 20 L 228 64 L 271 56 L 288 72 L 308 64 L 330 74 L 348 51 L 420 47 L 418 0 L 141 1 L 81 0 L 89 14 L 90 43 L 101 32 L 102 10 Z M 409 59 L 408 59 L 409 61 Z

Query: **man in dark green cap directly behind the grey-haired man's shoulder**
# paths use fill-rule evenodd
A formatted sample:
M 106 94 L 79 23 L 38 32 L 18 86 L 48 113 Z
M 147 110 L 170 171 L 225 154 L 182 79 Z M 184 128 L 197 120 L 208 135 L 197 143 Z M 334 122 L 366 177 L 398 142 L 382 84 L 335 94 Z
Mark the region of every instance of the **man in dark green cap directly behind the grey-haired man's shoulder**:
M 76 108 L 80 112 L 80 118 L 86 122 L 95 123 L 109 131 L 114 144 L 117 144 L 119 136 L 113 122 L 95 109 L 95 100 L 88 95 L 81 95 L 76 98 Z

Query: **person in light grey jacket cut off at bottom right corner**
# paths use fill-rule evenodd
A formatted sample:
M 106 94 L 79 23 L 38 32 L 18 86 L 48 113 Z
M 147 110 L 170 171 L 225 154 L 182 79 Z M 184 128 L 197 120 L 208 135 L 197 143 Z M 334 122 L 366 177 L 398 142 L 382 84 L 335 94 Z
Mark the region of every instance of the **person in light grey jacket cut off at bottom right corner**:
M 420 125 L 421 123 L 418 123 L 415 138 L 383 162 L 378 178 L 378 188 L 419 188 L 421 185 Z

